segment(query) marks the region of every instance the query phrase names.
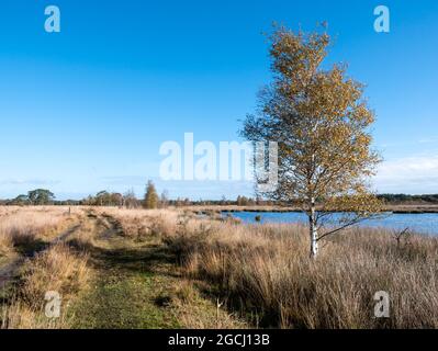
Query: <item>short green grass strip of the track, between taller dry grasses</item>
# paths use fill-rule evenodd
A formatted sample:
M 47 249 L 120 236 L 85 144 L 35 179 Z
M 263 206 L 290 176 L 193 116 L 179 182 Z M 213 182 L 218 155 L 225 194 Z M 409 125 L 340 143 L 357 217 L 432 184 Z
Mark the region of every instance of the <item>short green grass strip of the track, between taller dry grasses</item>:
M 74 306 L 75 328 L 178 328 L 166 295 L 178 281 L 171 257 L 156 238 L 132 242 L 116 220 L 89 214 L 94 238 L 87 251 L 92 286 Z M 173 272 L 173 273 L 171 273 Z

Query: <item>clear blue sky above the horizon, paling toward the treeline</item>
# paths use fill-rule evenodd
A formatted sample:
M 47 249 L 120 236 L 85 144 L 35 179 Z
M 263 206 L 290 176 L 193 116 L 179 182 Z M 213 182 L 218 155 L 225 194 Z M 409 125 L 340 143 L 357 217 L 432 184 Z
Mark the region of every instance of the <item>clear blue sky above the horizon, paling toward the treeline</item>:
M 44 31 L 56 4 L 61 32 Z M 391 10 L 375 33 L 373 9 Z M 166 140 L 238 140 L 239 120 L 270 79 L 272 21 L 328 21 L 328 63 L 346 61 L 375 110 L 380 192 L 438 192 L 438 2 L 2 1 L 0 197 L 34 188 L 59 199 L 141 195 L 148 178 L 172 197 L 235 197 L 245 182 L 164 182 Z

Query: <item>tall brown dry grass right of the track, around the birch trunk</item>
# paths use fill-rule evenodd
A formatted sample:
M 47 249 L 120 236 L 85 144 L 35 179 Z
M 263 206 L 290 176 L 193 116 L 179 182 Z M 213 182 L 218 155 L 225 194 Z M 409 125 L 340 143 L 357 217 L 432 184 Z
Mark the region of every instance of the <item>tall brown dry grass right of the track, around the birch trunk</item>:
M 261 327 L 437 328 L 438 240 L 350 229 L 308 257 L 307 229 L 192 219 L 167 236 L 186 274 Z M 373 296 L 390 294 L 390 318 Z

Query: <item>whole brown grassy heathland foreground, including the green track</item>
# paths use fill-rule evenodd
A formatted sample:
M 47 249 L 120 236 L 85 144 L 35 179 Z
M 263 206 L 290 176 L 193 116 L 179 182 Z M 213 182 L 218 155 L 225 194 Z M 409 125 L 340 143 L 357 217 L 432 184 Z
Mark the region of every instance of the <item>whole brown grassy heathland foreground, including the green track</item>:
M 419 235 L 355 227 L 311 260 L 301 225 L 245 225 L 193 208 L 0 207 L 0 273 L 20 258 L 0 287 L 3 328 L 99 327 L 102 308 L 139 288 L 130 298 L 150 309 L 110 327 L 438 327 L 438 240 Z M 44 316 L 47 291 L 63 295 L 61 318 Z M 380 291 L 389 318 L 374 317 Z

